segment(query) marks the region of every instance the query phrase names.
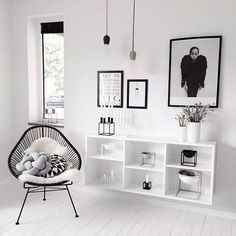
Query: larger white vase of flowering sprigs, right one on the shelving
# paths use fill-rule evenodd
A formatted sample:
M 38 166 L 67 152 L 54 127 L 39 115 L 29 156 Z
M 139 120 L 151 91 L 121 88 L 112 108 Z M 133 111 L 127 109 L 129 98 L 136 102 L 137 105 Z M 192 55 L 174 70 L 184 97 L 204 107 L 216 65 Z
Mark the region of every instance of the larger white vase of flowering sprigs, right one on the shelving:
M 202 105 L 202 103 L 196 103 L 194 106 L 186 106 L 183 108 L 183 114 L 188 120 L 189 142 L 199 142 L 201 135 L 201 123 L 210 111 L 212 110 L 209 109 L 209 105 Z

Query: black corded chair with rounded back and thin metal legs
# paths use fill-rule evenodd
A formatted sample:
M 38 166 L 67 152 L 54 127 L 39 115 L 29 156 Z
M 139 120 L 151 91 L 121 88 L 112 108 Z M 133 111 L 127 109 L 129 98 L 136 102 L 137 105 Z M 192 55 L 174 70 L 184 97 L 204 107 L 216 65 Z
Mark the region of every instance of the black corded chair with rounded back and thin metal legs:
M 64 158 L 73 163 L 73 168 L 80 170 L 82 160 L 79 152 L 72 146 L 68 139 L 56 128 L 48 125 L 37 125 L 28 128 L 24 134 L 21 136 L 20 140 L 17 142 L 13 150 L 11 151 L 8 158 L 8 168 L 12 175 L 16 178 L 19 177 L 19 173 L 16 169 L 16 164 L 20 162 L 24 156 L 24 151 L 30 147 L 30 145 L 37 139 L 42 137 L 48 137 L 57 141 L 60 145 L 67 147 L 67 153 Z M 73 206 L 75 217 L 78 217 L 74 202 L 72 200 L 68 186 L 72 185 L 73 182 L 70 180 L 64 180 L 61 182 L 50 183 L 50 184 L 38 184 L 32 182 L 25 182 L 23 184 L 24 189 L 27 189 L 19 216 L 17 218 L 16 224 L 19 224 L 19 220 L 28 197 L 29 193 L 39 193 L 43 192 L 43 200 L 46 201 L 46 192 L 61 191 L 66 190 L 70 197 L 71 204 Z

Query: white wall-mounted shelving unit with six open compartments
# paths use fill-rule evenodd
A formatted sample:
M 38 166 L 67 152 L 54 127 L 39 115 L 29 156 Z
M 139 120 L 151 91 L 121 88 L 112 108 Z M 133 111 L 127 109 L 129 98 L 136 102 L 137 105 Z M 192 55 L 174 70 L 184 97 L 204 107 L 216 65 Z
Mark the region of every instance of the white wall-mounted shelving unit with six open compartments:
M 102 156 L 102 144 L 115 144 L 114 155 Z M 181 151 L 197 151 L 195 167 L 182 166 Z M 211 205 L 214 193 L 215 141 L 182 143 L 174 139 L 138 136 L 86 136 L 85 182 L 106 189 L 132 192 L 173 200 Z M 140 166 L 139 154 L 155 152 L 154 167 Z M 202 174 L 201 197 L 199 200 L 176 196 L 176 181 L 180 169 L 194 170 Z M 104 183 L 102 176 L 114 171 L 115 183 Z M 145 175 L 152 181 L 151 190 L 143 190 Z

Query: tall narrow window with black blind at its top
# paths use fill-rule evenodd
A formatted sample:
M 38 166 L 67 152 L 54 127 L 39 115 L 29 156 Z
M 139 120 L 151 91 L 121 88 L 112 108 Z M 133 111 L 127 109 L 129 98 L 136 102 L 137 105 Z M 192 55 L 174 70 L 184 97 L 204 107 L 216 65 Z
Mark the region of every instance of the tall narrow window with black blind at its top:
M 43 118 L 64 119 L 63 22 L 41 23 L 43 63 Z

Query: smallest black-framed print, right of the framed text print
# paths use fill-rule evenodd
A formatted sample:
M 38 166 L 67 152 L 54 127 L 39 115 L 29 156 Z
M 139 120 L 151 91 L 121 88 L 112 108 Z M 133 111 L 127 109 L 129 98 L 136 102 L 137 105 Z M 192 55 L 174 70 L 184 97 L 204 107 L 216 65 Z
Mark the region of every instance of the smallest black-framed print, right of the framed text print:
M 148 80 L 127 80 L 127 108 L 147 109 Z

